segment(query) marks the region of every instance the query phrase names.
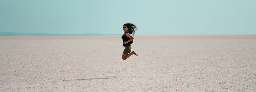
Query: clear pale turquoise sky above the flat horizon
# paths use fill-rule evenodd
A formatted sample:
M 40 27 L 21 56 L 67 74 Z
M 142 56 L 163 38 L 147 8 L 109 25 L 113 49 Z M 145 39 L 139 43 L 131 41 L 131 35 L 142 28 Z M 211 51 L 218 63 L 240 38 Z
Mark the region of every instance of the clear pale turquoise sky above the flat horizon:
M 256 0 L 0 0 L 0 32 L 256 34 Z

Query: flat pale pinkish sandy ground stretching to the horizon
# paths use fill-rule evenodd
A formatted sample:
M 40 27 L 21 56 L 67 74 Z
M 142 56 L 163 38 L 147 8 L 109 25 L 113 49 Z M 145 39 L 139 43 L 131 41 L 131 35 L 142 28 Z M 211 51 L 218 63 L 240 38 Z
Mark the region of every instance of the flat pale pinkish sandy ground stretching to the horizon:
M 256 35 L 0 37 L 0 91 L 256 91 Z

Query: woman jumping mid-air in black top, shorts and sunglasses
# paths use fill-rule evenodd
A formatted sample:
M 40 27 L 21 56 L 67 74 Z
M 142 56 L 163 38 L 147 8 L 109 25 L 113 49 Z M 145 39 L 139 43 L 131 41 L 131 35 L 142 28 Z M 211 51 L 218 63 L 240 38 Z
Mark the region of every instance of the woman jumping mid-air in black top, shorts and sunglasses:
M 123 52 L 122 59 L 125 60 L 133 54 L 138 56 L 138 54 L 136 54 L 134 51 L 131 52 L 131 49 L 132 49 L 131 43 L 133 42 L 132 41 L 134 39 L 133 35 L 135 30 L 137 30 L 137 26 L 131 23 L 126 23 L 123 26 L 123 30 L 124 30 L 124 34 L 122 36 L 122 39 L 123 39 L 124 52 Z

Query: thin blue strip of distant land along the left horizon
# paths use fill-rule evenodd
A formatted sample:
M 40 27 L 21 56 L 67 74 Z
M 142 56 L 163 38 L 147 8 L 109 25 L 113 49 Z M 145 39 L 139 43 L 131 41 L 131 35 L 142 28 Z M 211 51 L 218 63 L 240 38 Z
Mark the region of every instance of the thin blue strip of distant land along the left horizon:
M 121 35 L 121 34 L 40 34 L 40 33 L 0 32 L 0 36 L 73 36 L 73 35 Z

